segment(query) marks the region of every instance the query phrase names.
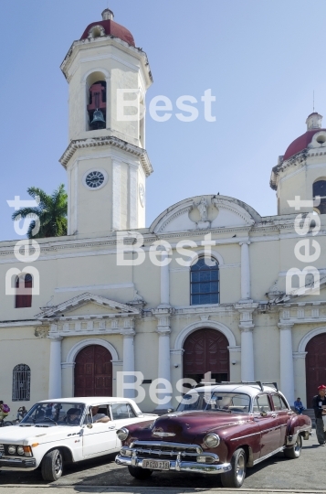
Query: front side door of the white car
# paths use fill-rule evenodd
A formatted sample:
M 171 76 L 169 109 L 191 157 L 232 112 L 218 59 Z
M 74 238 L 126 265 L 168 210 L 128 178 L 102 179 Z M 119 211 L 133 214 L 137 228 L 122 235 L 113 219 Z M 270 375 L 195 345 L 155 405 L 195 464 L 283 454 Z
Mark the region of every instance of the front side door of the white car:
M 109 404 L 100 404 L 99 413 L 105 413 L 110 417 Z M 106 423 L 93 423 L 89 407 L 89 411 L 85 418 L 85 424 L 82 429 L 83 456 L 104 455 L 110 453 L 110 451 L 114 451 L 116 445 L 116 426 L 114 421 L 110 420 L 110 422 Z

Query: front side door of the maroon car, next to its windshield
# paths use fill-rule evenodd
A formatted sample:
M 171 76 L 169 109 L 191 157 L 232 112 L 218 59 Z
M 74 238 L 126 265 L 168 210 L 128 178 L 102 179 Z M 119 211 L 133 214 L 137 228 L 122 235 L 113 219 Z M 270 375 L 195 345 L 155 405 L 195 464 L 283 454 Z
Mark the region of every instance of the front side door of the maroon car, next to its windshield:
M 260 393 L 254 400 L 254 420 L 260 430 L 260 456 L 266 456 L 279 448 L 280 433 L 276 413 L 272 410 L 267 393 Z

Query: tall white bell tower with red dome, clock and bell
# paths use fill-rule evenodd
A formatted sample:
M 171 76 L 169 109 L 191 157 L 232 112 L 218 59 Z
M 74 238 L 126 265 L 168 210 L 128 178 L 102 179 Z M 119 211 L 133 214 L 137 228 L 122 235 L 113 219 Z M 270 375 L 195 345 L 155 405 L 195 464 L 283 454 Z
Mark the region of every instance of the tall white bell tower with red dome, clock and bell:
M 146 54 L 105 9 L 61 64 L 69 85 L 68 234 L 103 236 L 145 226 Z

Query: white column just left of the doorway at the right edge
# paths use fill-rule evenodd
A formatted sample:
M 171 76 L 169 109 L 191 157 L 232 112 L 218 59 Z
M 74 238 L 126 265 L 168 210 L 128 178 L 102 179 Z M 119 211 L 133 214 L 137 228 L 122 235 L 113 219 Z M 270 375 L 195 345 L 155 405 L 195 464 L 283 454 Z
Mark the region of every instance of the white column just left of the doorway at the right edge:
M 290 405 L 294 402 L 292 324 L 279 323 L 280 391 Z

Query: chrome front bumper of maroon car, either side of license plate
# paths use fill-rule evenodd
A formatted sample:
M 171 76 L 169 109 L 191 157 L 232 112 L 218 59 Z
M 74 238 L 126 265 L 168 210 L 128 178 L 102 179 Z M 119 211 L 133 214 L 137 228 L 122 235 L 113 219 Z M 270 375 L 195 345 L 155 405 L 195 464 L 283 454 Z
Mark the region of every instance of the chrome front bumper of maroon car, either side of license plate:
M 117 455 L 115 457 L 115 462 L 117 465 L 123 465 L 125 467 L 141 467 L 142 468 L 142 458 L 138 456 L 121 456 Z M 180 461 L 169 460 L 170 469 L 162 471 L 176 471 L 176 472 L 199 472 L 207 474 L 223 474 L 232 469 L 230 463 L 219 463 L 216 465 L 207 463 L 197 463 L 193 461 Z

